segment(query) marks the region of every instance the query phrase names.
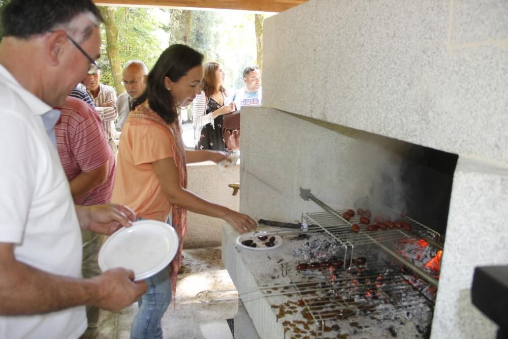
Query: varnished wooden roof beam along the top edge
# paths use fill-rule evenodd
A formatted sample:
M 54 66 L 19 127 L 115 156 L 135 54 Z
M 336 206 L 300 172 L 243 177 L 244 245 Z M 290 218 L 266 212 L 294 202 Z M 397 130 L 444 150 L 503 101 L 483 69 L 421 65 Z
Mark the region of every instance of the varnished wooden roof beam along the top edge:
M 93 0 L 100 6 L 170 7 L 282 12 L 307 0 Z

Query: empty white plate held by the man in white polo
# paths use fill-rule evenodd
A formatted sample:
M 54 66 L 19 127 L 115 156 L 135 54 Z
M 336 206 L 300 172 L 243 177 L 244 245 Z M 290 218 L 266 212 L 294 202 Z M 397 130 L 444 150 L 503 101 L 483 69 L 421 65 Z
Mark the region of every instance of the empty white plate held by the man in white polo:
M 132 269 L 135 281 L 160 272 L 175 257 L 178 234 L 170 225 L 141 220 L 111 235 L 99 251 L 99 267 L 106 271 L 115 267 Z

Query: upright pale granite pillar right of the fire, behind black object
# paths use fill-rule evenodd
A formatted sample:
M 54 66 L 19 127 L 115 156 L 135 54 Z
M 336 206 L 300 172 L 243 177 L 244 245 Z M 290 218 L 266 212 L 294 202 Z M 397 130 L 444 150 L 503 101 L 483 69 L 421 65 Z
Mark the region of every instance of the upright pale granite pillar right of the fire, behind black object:
M 432 338 L 494 338 L 497 326 L 471 302 L 474 267 L 508 264 L 508 169 L 469 157 L 457 163 Z

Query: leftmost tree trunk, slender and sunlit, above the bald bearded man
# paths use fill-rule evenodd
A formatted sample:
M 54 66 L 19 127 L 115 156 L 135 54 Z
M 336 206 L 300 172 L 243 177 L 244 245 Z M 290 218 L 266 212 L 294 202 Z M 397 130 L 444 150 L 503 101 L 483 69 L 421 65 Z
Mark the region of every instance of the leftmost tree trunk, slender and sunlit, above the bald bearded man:
M 114 7 L 99 7 L 104 18 L 104 28 L 106 30 L 106 53 L 108 54 L 109 65 L 111 66 L 111 75 L 113 76 L 116 94 L 122 93 L 125 89 L 121 84 L 122 65 L 118 48 L 118 27 L 115 23 Z

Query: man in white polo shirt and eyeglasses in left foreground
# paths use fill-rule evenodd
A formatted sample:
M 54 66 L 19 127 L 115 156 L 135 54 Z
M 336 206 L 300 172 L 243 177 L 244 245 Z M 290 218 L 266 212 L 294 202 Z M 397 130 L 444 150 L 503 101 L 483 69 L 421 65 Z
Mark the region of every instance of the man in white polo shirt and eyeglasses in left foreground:
M 135 215 L 119 204 L 75 205 L 55 147 L 52 107 L 97 70 L 101 20 L 91 0 L 12 0 L 2 13 L 2 338 L 75 339 L 86 329 L 85 305 L 121 310 L 146 291 L 123 268 L 81 278 L 80 227 L 111 234 Z

